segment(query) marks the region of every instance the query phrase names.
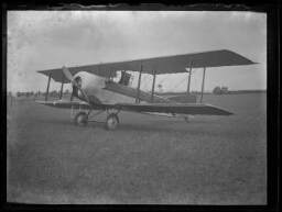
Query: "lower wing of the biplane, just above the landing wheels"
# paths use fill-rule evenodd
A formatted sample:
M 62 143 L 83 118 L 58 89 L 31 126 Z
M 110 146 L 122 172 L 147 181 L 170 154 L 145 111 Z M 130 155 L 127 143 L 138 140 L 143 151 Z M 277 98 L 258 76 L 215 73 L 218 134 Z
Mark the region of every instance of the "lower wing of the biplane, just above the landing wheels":
M 58 100 L 54 102 L 36 101 L 37 103 L 62 108 L 72 109 L 79 108 L 82 110 L 89 109 L 89 104 L 86 102 L 69 102 L 66 100 Z M 116 103 L 116 104 L 93 104 L 94 109 L 121 109 L 123 111 L 141 112 L 141 113 L 164 113 L 164 114 L 188 114 L 188 115 L 232 115 L 234 113 L 220 109 L 212 104 L 198 104 L 198 103 Z

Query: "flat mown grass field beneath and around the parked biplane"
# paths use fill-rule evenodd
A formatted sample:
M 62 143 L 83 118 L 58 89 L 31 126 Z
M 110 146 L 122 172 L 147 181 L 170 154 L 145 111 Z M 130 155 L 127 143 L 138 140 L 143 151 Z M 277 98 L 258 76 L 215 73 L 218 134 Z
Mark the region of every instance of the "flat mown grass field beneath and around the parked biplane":
M 76 204 L 265 204 L 267 96 L 205 96 L 232 116 L 120 112 L 78 127 L 69 110 L 8 101 L 7 199 Z

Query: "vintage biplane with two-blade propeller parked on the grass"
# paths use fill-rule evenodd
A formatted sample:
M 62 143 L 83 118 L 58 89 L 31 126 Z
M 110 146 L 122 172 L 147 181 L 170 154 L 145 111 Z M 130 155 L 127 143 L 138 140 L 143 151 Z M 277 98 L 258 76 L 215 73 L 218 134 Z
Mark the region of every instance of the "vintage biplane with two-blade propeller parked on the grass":
M 145 114 L 166 114 L 174 118 L 188 115 L 231 115 L 225 109 L 203 103 L 205 71 L 209 67 L 242 66 L 256 63 L 236 54 L 231 51 L 212 51 L 204 53 L 192 53 L 174 56 L 163 56 L 127 62 L 105 63 L 80 67 L 63 67 L 58 69 L 39 70 L 48 77 L 45 101 L 37 103 L 61 109 L 79 109 L 74 118 L 76 125 L 83 126 L 88 122 L 98 122 L 95 118 L 102 112 L 106 113 L 105 125 L 107 130 L 119 127 L 120 111 L 139 112 Z M 191 98 L 191 75 L 193 68 L 203 68 L 203 83 L 200 102 L 193 102 Z M 117 81 L 117 72 L 121 72 Z M 138 71 L 138 86 L 130 86 L 132 76 L 129 71 Z M 170 98 L 154 93 L 155 77 L 163 74 L 187 72 L 186 102 L 181 103 Z M 140 89 L 142 74 L 153 76 L 152 90 L 150 92 Z M 61 82 L 59 99 L 47 101 L 50 81 Z M 62 99 L 64 83 L 72 83 L 72 96 L 69 100 Z M 82 101 L 73 101 L 73 97 Z

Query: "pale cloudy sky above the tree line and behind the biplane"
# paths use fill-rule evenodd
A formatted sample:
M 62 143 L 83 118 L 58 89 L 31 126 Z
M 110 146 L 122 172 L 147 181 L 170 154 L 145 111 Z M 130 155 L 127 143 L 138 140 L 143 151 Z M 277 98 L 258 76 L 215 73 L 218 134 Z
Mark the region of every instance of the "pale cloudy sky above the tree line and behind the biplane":
M 36 72 L 195 52 L 229 49 L 257 65 L 207 68 L 205 91 L 267 89 L 267 14 L 219 11 L 8 11 L 7 90 L 45 91 Z M 188 74 L 160 75 L 163 91 L 185 91 Z M 202 88 L 194 69 L 191 90 Z M 134 74 L 133 86 L 138 75 Z M 142 77 L 150 90 L 152 76 Z M 181 82 L 181 83 L 180 83 Z M 59 90 L 52 82 L 50 90 Z M 64 89 L 70 90 L 70 85 Z

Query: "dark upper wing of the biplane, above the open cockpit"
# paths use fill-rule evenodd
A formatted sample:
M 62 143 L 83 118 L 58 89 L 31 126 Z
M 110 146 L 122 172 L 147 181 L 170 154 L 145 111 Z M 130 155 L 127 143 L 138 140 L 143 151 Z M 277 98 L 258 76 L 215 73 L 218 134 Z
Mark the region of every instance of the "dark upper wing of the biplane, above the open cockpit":
M 203 53 L 192 53 L 174 56 L 154 57 L 135 59 L 128 62 L 117 62 L 117 63 L 106 63 L 106 64 L 95 64 L 89 66 L 80 67 L 69 67 L 72 75 L 78 71 L 88 71 L 94 75 L 101 77 L 110 77 L 112 72 L 117 70 L 132 70 L 139 71 L 140 64 L 142 63 L 142 71 L 147 74 L 153 74 L 156 71 L 160 74 L 172 74 L 172 72 L 186 72 L 185 68 L 191 66 L 191 58 L 193 58 L 193 68 L 200 67 L 220 67 L 220 66 L 240 66 L 240 65 L 252 65 L 253 62 L 247 59 L 246 57 L 238 55 L 231 51 L 212 51 Z M 64 79 L 64 74 L 62 68 L 50 69 L 50 70 L 39 70 L 39 72 L 50 76 L 57 82 L 69 82 Z

